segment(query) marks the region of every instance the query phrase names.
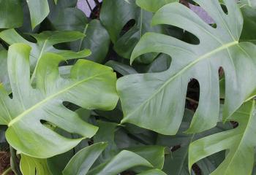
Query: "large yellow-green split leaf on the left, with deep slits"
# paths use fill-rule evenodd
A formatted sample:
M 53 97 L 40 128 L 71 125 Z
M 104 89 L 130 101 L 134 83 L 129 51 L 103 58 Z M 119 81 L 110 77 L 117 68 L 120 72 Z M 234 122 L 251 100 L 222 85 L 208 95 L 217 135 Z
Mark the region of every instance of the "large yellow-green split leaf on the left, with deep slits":
M 6 138 L 12 147 L 32 157 L 49 158 L 75 147 L 97 131 L 97 127 L 83 122 L 63 102 L 86 109 L 113 109 L 118 101 L 116 74 L 106 66 L 80 60 L 72 67 L 69 78 L 62 78 L 58 65 L 64 58 L 45 53 L 38 63 L 37 88 L 32 88 L 30 50 L 26 44 L 10 46 L 8 73 L 13 98 L 1 86 L 0 125 L 8 125 Z M 83 137 L 67 139 L 43 125 L 43 121 Z

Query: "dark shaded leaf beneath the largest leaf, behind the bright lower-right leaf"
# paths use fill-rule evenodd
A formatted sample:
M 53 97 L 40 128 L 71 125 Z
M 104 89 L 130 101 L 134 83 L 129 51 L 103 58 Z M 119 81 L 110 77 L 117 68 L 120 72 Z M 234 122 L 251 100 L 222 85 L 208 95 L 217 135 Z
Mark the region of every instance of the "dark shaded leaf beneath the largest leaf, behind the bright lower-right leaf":
M 165 156 L 165 165 L 162 170 L 165 171 L 166 174 L 189 175 L 189 144 L 196 139 L 200 139 L 214 133 L 227 131 L 228 129 L 232 128 L 231 125 L 223 125 L 222 123 L 218 123 L 217 127 L 203 133 L 184 133 L 184 131 L 189 128 L 189 123 L 192 120 L 193 114 L 194 112 L 185 109 L 184 118 L 176 136 L 164 136 L 160 134 L 157 136 L 158 145 L 163 145 L 165 147 L 169 147 L 170 149 L 172 149 L 173 147 L 177 148 L 177 146 L 180 147 L 177 150 L 173 151 L 171 154 Z M 208 157 L 204 160 L 201 160 L 197 163 L 197 166 L 200 167 L 201 173 L 203 175 L 208 175 L 211 173 L 211 171 L 217 168 L 219 163 L 221 163 L 224 158 L 225 157 L 223 156 L 223 152 L 219 152 L 214 157 Z

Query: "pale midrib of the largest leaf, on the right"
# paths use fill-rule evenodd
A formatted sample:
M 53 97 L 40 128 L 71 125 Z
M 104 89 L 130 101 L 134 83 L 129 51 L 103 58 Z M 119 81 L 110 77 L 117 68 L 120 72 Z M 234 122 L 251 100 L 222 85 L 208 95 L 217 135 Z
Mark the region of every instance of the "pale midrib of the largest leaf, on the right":
M 127 120 L 127 117 L 131 116 L 132 114 L 134 114 L 135 112 L 137 112 L 144 104 L 147 104 L 148 101 L 151 101 L 152 98 L 154 98 L 154 96 L 157 95 L 157 93 L 159 93 L 160 90 L 162 90 L 163 88 L 165 88 L 165 86 L 171 82 L 173 79 L 175 79 L 176 77 L 178 77 L 180 74 L 184 73 L 184 71 L 187 71 L 188 69 L 190 69 L 190 67 L 194 66 L 196 63 L 198 63 L 199 61 L 202 61 L 203 59 L 208 58 L 211 55 L 214 55 L 217 52 L 220 52 L 222 50 L 228 49 L 229 47 L 233 47 L 234 45 L 239 44 L 238 41 L 234 41 L 234 42 L 229 42 L 227 44 L 223 44 L 221 47 L 217 47 L 215 50 L 212 50 L 211 52 L 207 52 L 204 55 L 201 55 L 200 57 L 198 57 L 195 61 L 192 61 L 191 63 L 189 63 L 187 66 L 185 66 L 183 69 L 181 69 L 181 71 L 178 71 L 177 74 L 175 74 L 173 77 L 171 77 L 170 79 L 168 79 L 160 88 L 158 88 L 156 90 L 155 93 L 153 93 L 146 101 L 144 101 L 142 104 L 140 104 L 140 106 L 138 106 L 137 109 L 135 109 L 133 112 L 127 114 L 124 114 L 124 119 L 121 120 L 121 123 L 124 123 Z

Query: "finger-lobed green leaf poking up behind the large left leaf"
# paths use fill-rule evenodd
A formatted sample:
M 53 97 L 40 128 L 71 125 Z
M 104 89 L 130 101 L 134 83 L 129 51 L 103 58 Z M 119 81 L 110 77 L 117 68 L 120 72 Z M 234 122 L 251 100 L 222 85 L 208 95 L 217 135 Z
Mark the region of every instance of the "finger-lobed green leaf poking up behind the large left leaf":
M 29 42 L 26 39 L 23 39 L 14 29 L 9 29 L 2 31 L 0 33 L 0 38 L 7 42 L 7 44 L 15 43 L 24 43 L 29 44 L 32 48 L 30 54 L 31 62 L 31 71 L 33 72 L 31 80 L 34 80 L 34 76 L 37 72 L 37 63 L 39 59 L 42 58 L 42 55 L 45 52 L 58 53 L 58 55 L 63 56 L 65 59 L 74 59 L 74 58 L 83 58 L 91 54 L 90 50 L 81 50 L 79 52 L 72 52 L 70 50 L 58 50 L 53 45 L 63 43 L 63 42 L 72 42 L 84 37 L 78 31 L 44 31 L 41 34 L 31 34 L 36 40 L 37 43 Z

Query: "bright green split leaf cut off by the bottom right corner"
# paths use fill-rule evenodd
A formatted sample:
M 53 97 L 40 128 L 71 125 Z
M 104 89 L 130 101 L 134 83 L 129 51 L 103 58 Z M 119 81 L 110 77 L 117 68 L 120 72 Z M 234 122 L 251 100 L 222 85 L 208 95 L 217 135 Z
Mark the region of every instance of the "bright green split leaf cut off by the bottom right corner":
M 198 160 L 228 150 L 225 160 L 212 174 L 252 174 L 255 149 L 255 101 L 248 101 L 230 120 L 238 127 L 194 141 L 189 146 L 189 169 Z

